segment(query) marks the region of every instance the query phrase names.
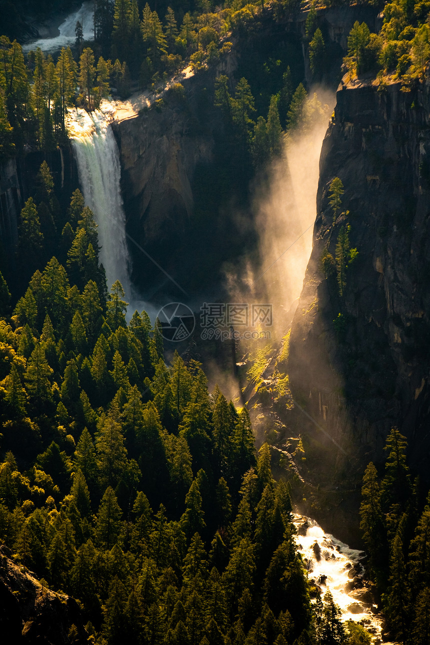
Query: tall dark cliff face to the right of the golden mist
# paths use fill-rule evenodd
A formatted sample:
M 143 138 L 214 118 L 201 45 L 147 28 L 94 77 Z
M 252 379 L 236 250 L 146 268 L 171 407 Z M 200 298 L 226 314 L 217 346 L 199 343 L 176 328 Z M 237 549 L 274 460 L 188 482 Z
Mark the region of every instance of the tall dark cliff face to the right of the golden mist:
M 296 419 L 308 441 L 309 474 L 315 468 L 339 535 L 349 511 L 357 511 L 364 468 L 385 457 L 391 426 L 407 436 L 411 466 L 429 477 L 429 96 L 427 86 L 342 86 L 322 146 L 289 378 L 295 400 L 316 422 Z M 333 177 L 345 190 L 334 224 Z M 325 248 L 335 257 L 348 224 L 358 257 L 346 269 L 341 297 L 336 270 L 326 279 L 320 259 Z

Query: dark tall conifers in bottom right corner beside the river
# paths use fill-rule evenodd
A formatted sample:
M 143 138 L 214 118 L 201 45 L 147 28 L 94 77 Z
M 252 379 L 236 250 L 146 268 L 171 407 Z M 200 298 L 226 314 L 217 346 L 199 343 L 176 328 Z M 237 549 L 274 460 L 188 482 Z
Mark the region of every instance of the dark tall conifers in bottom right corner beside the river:
M 372 463 L 364 475 L 361 528 L 389 629 L 400 642 L 418 645 L 429 633 L 430 497 L 419 515 L 416 484 L 406 463 L 406 437 L 397 428 L 387 437 L 386 452 L 382 481 Z M 358 635 L 353 632 L 351 637 Z

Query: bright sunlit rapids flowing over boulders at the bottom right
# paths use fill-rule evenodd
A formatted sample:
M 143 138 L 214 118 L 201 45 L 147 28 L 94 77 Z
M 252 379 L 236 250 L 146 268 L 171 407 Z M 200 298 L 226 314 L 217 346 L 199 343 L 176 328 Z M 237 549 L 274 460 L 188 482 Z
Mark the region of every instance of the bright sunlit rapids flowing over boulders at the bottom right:
M 308 568 L 309 580 L 320 588 L 322 597 L 330 591 L 342 611 L 342 620 L 359 622 L 371 634 L 375 643 L 381 642 L 381 619 L 371 592 L 362 580 L 363 551 L 349 548 L 344 542 L 324 533 L 309 517 L 295 515 L 298 534 L 296 542 Z M 387 643 L 385 645 L 393 645 Z

